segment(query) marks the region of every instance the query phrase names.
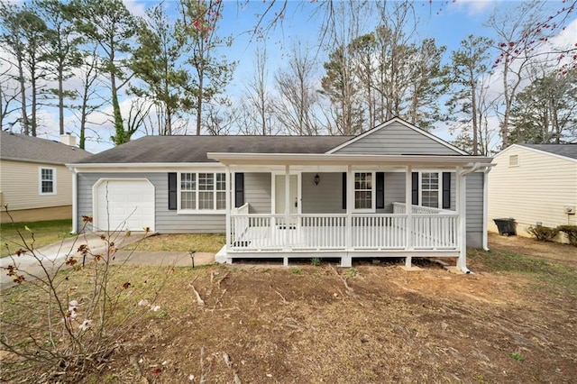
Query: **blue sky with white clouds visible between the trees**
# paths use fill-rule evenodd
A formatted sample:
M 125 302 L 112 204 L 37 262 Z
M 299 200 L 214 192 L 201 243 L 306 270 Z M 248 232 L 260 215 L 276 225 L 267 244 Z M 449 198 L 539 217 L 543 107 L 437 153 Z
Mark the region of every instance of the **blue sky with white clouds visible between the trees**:
M 133 11 L 134 14 L 142 15 L 144 10 L 156 4 L 156 1 L 124 0 L 124 3 Z M 275 12 L 279 12 L 283 0 L 277 0 L 276 4 L 270 11 L 270 14 L 263 20 L 263 25 L 267 25 L 270 18 Z M 551 9 L 558 9 L 561 0 L 547 2 L 545 6 Z M 174 4 L 169 3 L 169 6 Z M 255 0 L 248 2 L 244 0 L 229 0 L 224 3 L 224 16 L 220 22 L 220 34 L 223 36 L 232 35 L 234 37 L 233 46 L 226 49 L 226 55 L 229 59 L 238 61 L 238 66 L 234 72 L 234 79 L 227 87 L 226 94 L 233 97 L 240 97 L 247 80 L 251 77 L 254 50 L 257 45 L 266 44 L 268 53 L 268 71 L 269 84 L 272 87 L 272 78 L 277 69 L 285 66 L 287 54 L 294 41 L 301 41 L 310 49 L 317 52 L 318 59 L 318 78 L 322 78 L 322 62 L 326 59 L 328 52 L 319 49 L 319 29 L 322 22 L 322 15 L 315 13 L 318 9 L 318 2 L 290 1 L 287 3 L 287 10 L 282 23 L 277 23 L 265 36 L 263 40 L 258 40 L 252 34 L 252 29 L 258 20 L 258 14 L 261 14 L 266 7 L 270 5 L 270 0 Z M 470 1 L 470 0 L 449 0 L 449 1 L 428 1 L 415 2 L 414 7 L 419 19 L 417 33 L 419 39 L 434 37 L 437 45 L 447 47 L 444 59 L 448 63 L 450 52 L 458 48 L 460 41 L 465 39 L 469 34 L 483 35 L 493 37 L 490 29 L 484 28 L 490 14 L 495 9 L 500 14 L 507 14 L 511 9 L 520 5 L 520 2 L 512 1 Z M 371 25 L 371 23 L 373 25 Z M 365 32 L 370 32 L 372 27 L 378 23 L 377 18 L 369 21 Z M 565 33 L 564 39 L 577 42 L 577 18 L 573 15 L 570 21 L 575 33 Z M 570 24 L 568 23 L 568 24 Z M 124 100 L 125 101 L 125 100 Z M 124 106 L 126 107 L 126 103 Z M 124 113 L 127 115 L 128 111 Z M 58 123 L 56 114 L 47 111 L 43 115 L 44 123 L 41 128 L 41 136 L 57 140 Z M 88 142 L 88 151 L 103 151 L 112 147 L 108 140 L 110 137 L 111 124 L 105 122 L 105 116 L 102 117 L 103 125 L 98 129 L 100 137 L 104 139 L 101 142 Z M 192 122 L 191 122 L 192 125 Z M 69 131 L 76 132 L 75 122 L 69 119 L 67 123 Z M 452 140 L 446 127 L 439 126 L 433 133 L 439 135 L 444 140 Z M 142 134 L 142 133 L 140 133 Z M 135 136 L 137 137 L 138 134 Z

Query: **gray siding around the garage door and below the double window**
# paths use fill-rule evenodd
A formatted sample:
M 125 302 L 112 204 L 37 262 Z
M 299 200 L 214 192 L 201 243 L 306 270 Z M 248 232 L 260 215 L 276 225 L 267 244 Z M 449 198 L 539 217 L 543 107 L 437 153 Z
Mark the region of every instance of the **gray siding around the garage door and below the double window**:
M 154 231 L 157 233 L 224 233 L 225 215 L 179 215 L 169 210 L 168 173 L 79 173 L 78 229 L 83 215 L 93 215 L 92 187 L 100 178 L 147 178 L 154 186 Z M 87 226 L 87 230 L 92 230 Z

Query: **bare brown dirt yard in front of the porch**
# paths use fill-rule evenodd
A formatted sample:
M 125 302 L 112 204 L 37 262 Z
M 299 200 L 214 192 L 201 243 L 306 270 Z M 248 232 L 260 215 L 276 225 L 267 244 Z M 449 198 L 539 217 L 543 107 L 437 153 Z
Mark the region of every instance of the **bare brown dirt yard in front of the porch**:
M 176 269 L 162 310 L 82 382 L 575 382 L 575 248 L 490 242 L 472 275 L 429 261 Z

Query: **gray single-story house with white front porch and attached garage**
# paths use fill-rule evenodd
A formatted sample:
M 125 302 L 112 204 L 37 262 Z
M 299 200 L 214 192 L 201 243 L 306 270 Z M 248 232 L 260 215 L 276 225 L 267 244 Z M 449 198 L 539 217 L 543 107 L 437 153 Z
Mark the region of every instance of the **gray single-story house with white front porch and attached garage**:
M 69 164 L 73 227 L 226 233 L 217 261 L 456 257 L 486 245 L 485 172 L 394 118 L 359 136 L 148 136 Z M 229 191 L 229 193 L 227 193 Z

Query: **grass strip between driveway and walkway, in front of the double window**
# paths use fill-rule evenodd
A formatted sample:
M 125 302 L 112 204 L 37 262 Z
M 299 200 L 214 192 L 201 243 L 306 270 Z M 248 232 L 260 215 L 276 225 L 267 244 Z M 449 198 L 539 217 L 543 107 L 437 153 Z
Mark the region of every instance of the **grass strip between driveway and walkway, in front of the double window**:
M 127 245 L 126 251 L 220 251 L 225 242 L 222 233 L 158 234 L 142 242 Z

